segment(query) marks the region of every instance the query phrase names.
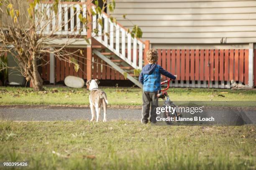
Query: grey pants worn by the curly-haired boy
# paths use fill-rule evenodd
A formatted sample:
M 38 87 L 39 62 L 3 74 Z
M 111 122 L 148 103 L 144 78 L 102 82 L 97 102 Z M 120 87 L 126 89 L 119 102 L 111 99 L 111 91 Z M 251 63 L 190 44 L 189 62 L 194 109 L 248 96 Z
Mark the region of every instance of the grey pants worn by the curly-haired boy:
M 150 112 L 150 122 L 155 123 L 156 122 L 156 107 L 158 107 L 158 92 L 145 92 L 143 91 L 142 94 L 142 122 L 148 122 L 149 117 L 149 111 L 151 106 L 151 112 Z

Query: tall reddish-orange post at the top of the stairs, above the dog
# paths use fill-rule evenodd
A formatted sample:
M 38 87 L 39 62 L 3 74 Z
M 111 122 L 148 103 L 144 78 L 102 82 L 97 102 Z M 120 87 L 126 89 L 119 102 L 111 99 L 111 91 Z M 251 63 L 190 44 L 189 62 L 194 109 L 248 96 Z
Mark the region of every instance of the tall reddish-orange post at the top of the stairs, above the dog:
M 87 7 L 87 20 L 92 21 L 92 15 L 90 12 L 91 9 L 91 1 L 87 0 L 86 2 L 86 7 Z M 87 38 L 91 40 L 92 38 L 92 22 L 89 22 L 90 24 L 87 25 Z M 92 41 L 90 41 L 90 44 L 87 45 L 87 80 L 92 79 Z M 89 87 L 87 87 L 89 88 Z

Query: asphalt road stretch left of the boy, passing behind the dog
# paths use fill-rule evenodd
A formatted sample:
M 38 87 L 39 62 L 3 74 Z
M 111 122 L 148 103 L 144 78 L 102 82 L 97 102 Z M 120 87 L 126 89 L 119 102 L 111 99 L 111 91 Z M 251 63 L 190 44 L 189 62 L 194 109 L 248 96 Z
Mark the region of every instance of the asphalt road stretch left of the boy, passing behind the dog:
M 20 121 L 90 120 L 87 107 L 1 106 L 0 119 Z M 103 108 L 100 119 L 103 120 Z M 107 120 L 141 120 L 141 110 L 107 109 Z

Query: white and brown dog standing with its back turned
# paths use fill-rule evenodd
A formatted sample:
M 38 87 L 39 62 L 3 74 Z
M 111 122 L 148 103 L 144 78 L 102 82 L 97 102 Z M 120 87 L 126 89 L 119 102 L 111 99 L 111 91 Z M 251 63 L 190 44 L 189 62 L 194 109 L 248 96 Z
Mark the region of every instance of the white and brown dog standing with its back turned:
M 92 119 L 90 121 L 95 120 L 95 110 L 97 115 L 96 121 L 98 122 L 100 120 L 100 107 L 101 105 L 103 105 L 103 109 L 104 109 L 103 122 L 106 122 L 107 121 L 106 112 L 107 112 L 107 104 L 108 104 L 107 95 L 104 91 L 99 90 L 98 84 L 100 84 L 100 81 L 97 79 L 88 80 L 86 82 L 86 85 L 87 86 L 89 85 L 89 90 L 91 90 L 89 100 L 90 100 Z

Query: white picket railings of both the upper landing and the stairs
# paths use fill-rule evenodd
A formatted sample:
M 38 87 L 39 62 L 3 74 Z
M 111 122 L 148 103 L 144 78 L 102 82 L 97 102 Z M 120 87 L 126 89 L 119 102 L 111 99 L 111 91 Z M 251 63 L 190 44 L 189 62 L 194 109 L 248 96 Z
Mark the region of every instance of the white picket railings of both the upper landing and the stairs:
M 46 11 L 47 15 L 47 17 L 45 15 L 36 18 L 36 22 L 40 23 L 38 24 L 38 33 L 87 35 L 86 27 L 79 19 L 79 14 L 82 14 L 85 18 L 87 17 L 86 4 L 79 2 L 60 3 L 57 14 L 52 10 L 52 5 L 52 3 L 39 3 L 35 7 L 36 13 L 42 12 L 43 14 Z M 93 4 L 92 9 L 95 10 Z M 102 26 L 97 22 L 98 18 L 102 19 Z M 143 41 L 136 37 L 133 38 L 131 33 L 122 25 L 113 23 L 106 13 L 92 16 L 92 30 L 94 29 L 97 29 L 98 33 L 96 35 L 95 32 L 92 32 L 92 37 L 133 68 L 142 69 L 143 49 L 145 48 Z

